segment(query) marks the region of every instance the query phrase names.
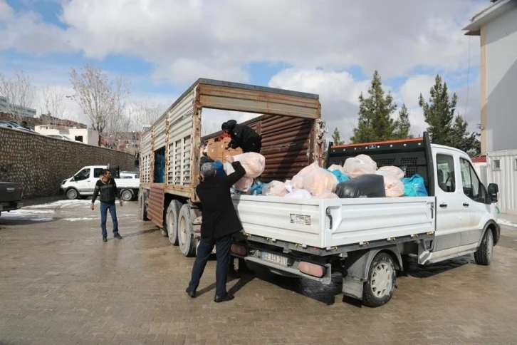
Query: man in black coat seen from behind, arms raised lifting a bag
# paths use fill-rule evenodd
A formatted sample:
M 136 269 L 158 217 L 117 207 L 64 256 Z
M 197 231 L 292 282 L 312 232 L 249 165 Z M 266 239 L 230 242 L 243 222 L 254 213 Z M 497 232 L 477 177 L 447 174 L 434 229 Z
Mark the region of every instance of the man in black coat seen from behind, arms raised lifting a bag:
M 202 182 L 196 187 L 197 196 L 201 200 L 203 220 L 201 225 L 201 241 L 197 247 L 196 261 L 192 267 L 192 278 L 187 287 L 187 294 L 196 297 L 204 267 L 216 246 L 216 295 L 214 302 L 231 301 L 234 297 L 226 292 L 226 274 L 229 267 L 231 235 L 242 230 L 241 221 L 231 201 L 230 187 L 246 174 L 241 163 L 226 156 L 226 160 L 234 167 L 228 176 L 216 175 L 214 163 L 204 163 L 201 167 Z

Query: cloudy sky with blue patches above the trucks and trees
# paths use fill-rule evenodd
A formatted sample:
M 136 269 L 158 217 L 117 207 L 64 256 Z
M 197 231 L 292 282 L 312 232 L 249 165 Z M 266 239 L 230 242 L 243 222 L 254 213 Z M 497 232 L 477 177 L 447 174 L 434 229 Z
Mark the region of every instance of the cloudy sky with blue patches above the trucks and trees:
M 375 69 L 385 89 L 411 111 L 415 134 L 425 128 L 417 98 L 429 95 L 439 73 L 458 93 L 458 111 L 474 129 L 479 37 L 464 36 L 461 29 L 489 5 L 488 0 L 0 0 L 0 71 L 23 68 L 37 86 L 70 93 L 70 68 L 93 61 L 110 76 L 131 81 L 135 96 L 167 105 L 197 78 L 318 93 L 330 131 L 338 127 L 345 138 L 357 120 L 357 96 L 367 90 Z

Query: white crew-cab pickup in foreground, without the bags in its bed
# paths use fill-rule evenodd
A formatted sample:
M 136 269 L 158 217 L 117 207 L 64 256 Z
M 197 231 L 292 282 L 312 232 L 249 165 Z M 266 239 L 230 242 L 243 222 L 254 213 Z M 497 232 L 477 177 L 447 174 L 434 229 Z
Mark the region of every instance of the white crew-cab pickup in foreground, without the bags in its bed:
M 328 165 L 367 154 L 406 177 L 424 177 L 428 197 L 300 199 L 234 196 L 244 227 L 232 251 L 271 272 L 330 284 L 343 274 L 343 293 L 369 307 L 387 303 L 404 256 L 419 264 L 474 253 L 491 263 L 500 228 L 494 202 L 466 153 L 431 145 L 429 136 L 397 142 L 333 146 Z M 267 161 L 266 161 L 267 164 Z

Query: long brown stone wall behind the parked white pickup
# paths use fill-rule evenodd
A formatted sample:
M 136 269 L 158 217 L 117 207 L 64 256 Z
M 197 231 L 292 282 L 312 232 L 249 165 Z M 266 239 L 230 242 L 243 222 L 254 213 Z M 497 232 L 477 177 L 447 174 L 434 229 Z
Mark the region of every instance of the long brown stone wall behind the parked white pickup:
M 0 127 L 0 181 L 23 184 L 24 198 L 57 195 L 83 166 L 108 163 L 137 170 L 129 153 Z

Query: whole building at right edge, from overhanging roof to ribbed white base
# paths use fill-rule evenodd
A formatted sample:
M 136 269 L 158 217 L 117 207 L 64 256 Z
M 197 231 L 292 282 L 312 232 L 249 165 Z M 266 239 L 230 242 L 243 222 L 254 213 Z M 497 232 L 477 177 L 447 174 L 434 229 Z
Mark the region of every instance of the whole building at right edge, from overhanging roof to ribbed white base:
M 517 0 L 493 0 L 464 28 L 481 39 L 481 153 L 498 207 L 517 214 Z

